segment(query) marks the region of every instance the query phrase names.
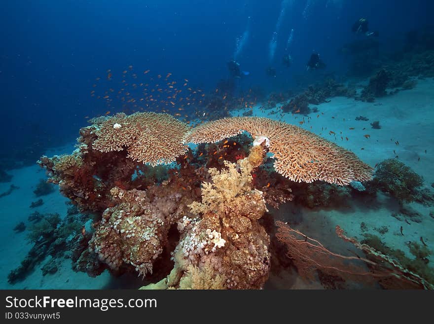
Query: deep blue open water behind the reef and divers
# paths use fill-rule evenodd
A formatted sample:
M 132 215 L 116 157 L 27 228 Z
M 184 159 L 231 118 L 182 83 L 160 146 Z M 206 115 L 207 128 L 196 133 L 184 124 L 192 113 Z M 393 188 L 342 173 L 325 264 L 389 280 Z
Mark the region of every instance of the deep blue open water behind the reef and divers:
M 88 118 L 120 111 L 179 113 L 170 98 L 159 108 L 140 101 L 143 84 L 158 88 L 158 75 L 160 83 L 186 82 L 213 93 L 221 79 L 231 79 L 227 62 L 235 59 L 248 72 L 234 79 L 240 97 L 250 88 L 264 95 L 295 91 L 300 80 L 306 85 L 327 73 L 346 82 L 351 62 L 339 48 L 366 38 L 351 32 L 356 20 L 366 17 L 370 30 L 379 31 L 385 55 L 401 49 L 409 31 L 432 25 L 433 12 L 431 0 L 5 1 L 0 169 L 33 165 L 49 148 L 70 148 Z M 313 52 L 324 70 L 306 71 Z M 285 54 L 292 57 L 289 68 L 282 65 Z M 275 77 L 267 75 L 270 67 Z M 135 102 L 115 98 L 121 89 Z M 111 93 L 113 101 L 104 100 Z M 200 93 L 195 98 L 201 100 Z M 192 116 L 194 109 L 184 111 Z

